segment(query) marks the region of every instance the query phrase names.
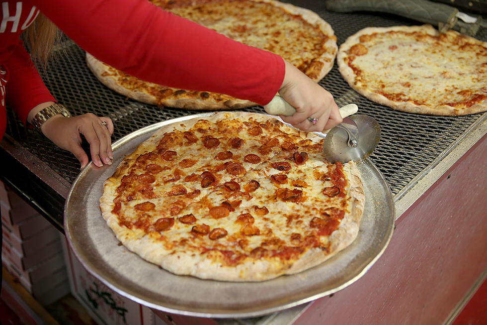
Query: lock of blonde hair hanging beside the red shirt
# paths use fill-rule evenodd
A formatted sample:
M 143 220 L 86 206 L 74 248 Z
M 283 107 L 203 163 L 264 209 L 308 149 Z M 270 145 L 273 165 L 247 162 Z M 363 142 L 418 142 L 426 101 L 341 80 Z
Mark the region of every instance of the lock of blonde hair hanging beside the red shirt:
M 54 45 L 59 41 L 61 35 L 61 30 L 46 16 L 39 13 L 23 35 L 23 39 L 30 49 L 32 60 L 46 67 L 48 60 L 53 56 Z

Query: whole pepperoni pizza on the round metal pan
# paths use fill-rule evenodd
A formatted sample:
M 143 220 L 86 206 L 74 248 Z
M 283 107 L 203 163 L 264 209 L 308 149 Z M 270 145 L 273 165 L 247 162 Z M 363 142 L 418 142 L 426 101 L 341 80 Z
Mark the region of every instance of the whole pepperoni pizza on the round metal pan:
M 103 185 L 100 210 L 130 251 L 178 275 L 264 281 L 354 241 L 365 195 L 353 163 L 269 115 L 220 111 L 162 126 Z

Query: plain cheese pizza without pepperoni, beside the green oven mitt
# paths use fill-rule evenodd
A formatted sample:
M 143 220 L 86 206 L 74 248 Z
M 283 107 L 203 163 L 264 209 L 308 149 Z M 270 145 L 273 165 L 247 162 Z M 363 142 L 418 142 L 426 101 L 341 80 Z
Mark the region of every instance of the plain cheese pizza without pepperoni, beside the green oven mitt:
M 350 87 L 381 105 L 431 115 L 487 110 L 487 43 L 456 31 L 368 27 L 336 59 Z

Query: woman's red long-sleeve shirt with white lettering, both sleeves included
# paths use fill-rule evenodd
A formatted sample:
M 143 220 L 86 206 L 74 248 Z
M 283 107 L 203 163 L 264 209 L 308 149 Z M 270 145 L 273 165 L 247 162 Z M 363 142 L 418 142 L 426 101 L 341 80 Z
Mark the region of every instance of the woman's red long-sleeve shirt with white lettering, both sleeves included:
M 145 0 L 2 2 L 1 99 L 7 99 L 23 122 L 35 105 L 54 100 L 18 41 L 38 10 L 87 52 L 143 80 L 264 105 L 284 78 L 279 56 L 233 41 Z M 1 137 L 6 117 L 5 109 L 0 109 Z

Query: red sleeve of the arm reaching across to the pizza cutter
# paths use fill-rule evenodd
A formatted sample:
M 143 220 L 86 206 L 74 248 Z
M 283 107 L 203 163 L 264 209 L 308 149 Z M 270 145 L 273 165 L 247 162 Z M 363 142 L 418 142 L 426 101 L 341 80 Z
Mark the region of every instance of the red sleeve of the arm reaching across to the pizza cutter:
M 284 79 L 278 55 L 233 41 L 147 0 L 32 0 L 99 60 L 165 86 L 267 104 Z

